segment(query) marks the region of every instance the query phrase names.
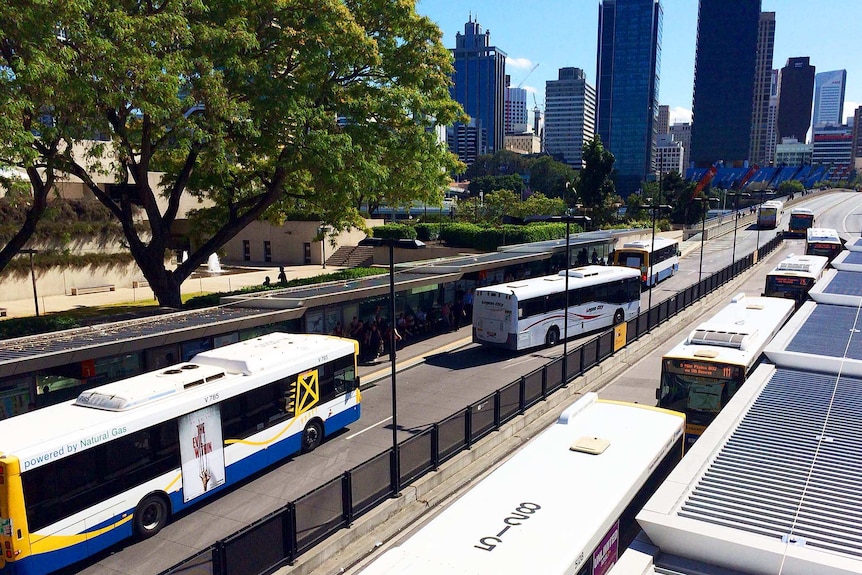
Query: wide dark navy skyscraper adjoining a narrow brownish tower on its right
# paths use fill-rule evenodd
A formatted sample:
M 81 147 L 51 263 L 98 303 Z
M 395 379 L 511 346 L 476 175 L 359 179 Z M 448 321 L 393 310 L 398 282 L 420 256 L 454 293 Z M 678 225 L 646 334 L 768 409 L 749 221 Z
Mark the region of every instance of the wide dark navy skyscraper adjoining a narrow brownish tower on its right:
M 694 60 L 691 156 L 696 167 L 751 156 L 760 0 L 700 0 Z

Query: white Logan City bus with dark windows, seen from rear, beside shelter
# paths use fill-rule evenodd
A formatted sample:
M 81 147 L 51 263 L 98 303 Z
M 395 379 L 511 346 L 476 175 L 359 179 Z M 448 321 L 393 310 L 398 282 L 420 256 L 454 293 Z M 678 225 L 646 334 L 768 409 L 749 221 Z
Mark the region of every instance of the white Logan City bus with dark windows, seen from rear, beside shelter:
M 473 341 L 511 350 L 554 346 L 568 335 L 611 327 L 640 312 L 640 276 L 634 270 L 583 266 L 566 272 L 511 281 L 476 290 Z

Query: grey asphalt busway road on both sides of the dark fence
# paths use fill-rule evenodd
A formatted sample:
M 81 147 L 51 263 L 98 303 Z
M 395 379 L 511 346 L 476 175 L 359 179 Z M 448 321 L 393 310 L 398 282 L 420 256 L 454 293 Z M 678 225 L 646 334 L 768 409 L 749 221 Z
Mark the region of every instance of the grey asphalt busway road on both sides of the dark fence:
M 812 201 L 818 202 L 815 212 L 822 210 L 827 214 L 822 222 L 818 217 L 818 225 L 827 225 L 829 218 L 833 217 L 829 215 L 832 212 L 836 218 L 860 212 L 862 219 L 862 194 L 829 194 L 812 198 Z M 820 205 L 821 202 L 823 205 Z M 786 219 L 785 215 L 784 226 Z M 775 231 L 761 231 L 759 235 L 761 243 L 765 243 L 775 235 Z M 730 263 L 731 241 L 732 238 L 723 237 L 706 244 L 703 258 L 705 276 Z M 756 230 L 753 227 L 737 230 L 737 258 L 751 252 L 755 241 Z M 760 295 L 766 272 L 786 254 L 800 253 L 800 249 L 804 249 L 803 244 L 798 240 L 785 242 L 785 247 L 771 254 L 763 262 L 765 265 L 758 266 L 742 289 L 737 291 Z M 673 297 L 697 281 L 699 266 L 699 249 L 685 255 L 681 260 L 680 272 L 653 289 L 653 305 Z M 646 309 L 647 298 L 648 292 L 644 292 L 642 309 Z M 716 302 L 715 305 L 723 303 Z M 692 323 L 695 321 L 693 319 Z M 661 354 L 670 349 L 688 329 L 690 327 L 686 325 L 676 332 L 668 333 L 664 341 L 656 340 L 656 348 L 643 357 L 643 363 L 633 365 L 623 377 L 602 390 L 601 395 L 654 404 Z M 432 342 L 446 347 L 430 350 L 412 362 L 410 355 L 413 346 L 400 353 L 399 362 L 402 366 L 416 365 L 403 371 L 399 369 L 397 375 L 399 441 L 541 367 L 550 358 L 559 356 L 563 348 L 560 344 L 552 349 L 508 354 L 470 344 L 469 337 L 469 327 L 462 328 L 456 334 L 448 334 L 438 342 Z M 578 341 L 572 339 L 568 344 L 570 349 L 577 346 Z M 324 442 L 314 452 L 297 456 L 192 512 L 175 517 L 156 537 L 115 547 L 65 573 L 159 573 L 390 448 L 389 364 L 381 361 L 376 365 L 363 366 L 360 372 L 363 381 L 369 383 L 363 383 L 362 419 L 350 429 Z

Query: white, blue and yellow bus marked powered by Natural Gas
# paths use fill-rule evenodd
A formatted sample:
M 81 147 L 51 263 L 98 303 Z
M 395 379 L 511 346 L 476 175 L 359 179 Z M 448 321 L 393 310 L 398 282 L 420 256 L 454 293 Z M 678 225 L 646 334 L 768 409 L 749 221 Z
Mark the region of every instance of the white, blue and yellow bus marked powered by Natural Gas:
M 359 419 L 357 343 L 271 333 L 0 421 L 0 573 L 48 573 Z

